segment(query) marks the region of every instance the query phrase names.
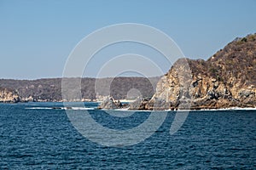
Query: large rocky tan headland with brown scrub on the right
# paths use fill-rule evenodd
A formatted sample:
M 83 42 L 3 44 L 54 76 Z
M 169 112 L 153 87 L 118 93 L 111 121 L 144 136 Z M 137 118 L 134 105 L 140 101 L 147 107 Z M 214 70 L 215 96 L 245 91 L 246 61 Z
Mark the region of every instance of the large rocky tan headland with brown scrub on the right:
M 178 59 L 148 110 L 256 107 L 256 34 L 236 38 L 207 61 Z

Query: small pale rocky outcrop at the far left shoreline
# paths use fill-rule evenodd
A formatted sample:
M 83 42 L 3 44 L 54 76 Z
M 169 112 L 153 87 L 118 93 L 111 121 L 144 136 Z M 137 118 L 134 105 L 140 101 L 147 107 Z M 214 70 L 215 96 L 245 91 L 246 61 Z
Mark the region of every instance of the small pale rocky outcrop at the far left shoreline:
M 0 88 L 0 102 L 4 103 L 17 103 L 20 97 L 15 90 L 10 88 Z

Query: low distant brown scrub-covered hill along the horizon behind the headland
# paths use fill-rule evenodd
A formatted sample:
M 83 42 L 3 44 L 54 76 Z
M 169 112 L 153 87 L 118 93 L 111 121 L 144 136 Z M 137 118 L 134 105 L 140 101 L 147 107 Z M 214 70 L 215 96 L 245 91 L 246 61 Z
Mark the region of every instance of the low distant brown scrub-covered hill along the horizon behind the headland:
M 144 98 L 152 97 L 160 77 L 115 77 L 115 78 L 82 78 L 81 94 L 83 99 L 96 99 L 98 96 L 113 96 L 114 99 L 127 99 L 131 89 L 137 89 Z M 74 78 L 68 82 L 73 83 Z M 97 82 L 97 90 L 95 84 Z M 38 80 L 0 79 L 1 88 L 15 90 L 20 100 L 61 101 L 61 78 L 44 78 Z M 72 90 L 72 89 L 70 89 Z

